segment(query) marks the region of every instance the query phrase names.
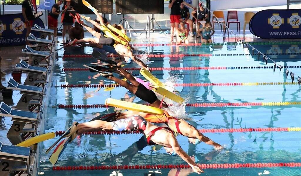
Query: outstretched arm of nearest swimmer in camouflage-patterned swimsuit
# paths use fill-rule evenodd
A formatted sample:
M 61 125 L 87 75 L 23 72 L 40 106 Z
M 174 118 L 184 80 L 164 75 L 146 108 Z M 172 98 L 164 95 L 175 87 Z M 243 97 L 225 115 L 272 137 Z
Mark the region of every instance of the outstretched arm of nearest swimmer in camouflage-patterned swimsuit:
M 204 172 L 200 166 L 198 166 L 187 153 L 184 152 L 184 150 L 180 147 L 178 144 L 178 141 L 175 139 L 175 136 L 172 134 L 166 135 L 166 139 L 168 140 L 169 144 L 171 145 L 173 151 L 177 153 L 185 162 L 187 162 L 190 167 L 194 170 L 194 172 L 200 174 L 201 172 Z

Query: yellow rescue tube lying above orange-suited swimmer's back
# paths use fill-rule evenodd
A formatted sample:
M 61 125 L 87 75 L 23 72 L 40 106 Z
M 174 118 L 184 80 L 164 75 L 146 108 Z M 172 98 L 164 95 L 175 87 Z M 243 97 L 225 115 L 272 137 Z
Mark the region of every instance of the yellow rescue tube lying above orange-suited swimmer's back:
M 131 102 L 126 102 L 126 101 L 116 100 L 116 99 L 106 99 L 105 104 L 109 105 L 109 106 L 114 106 L 114 107 L 117 107 L 117 108 L 123 108 L 123 109 L 138 111 L 138 112 L 144 112 L 144 113 L 148 113 L 148 114 L 163 115 L 163 110 L 162 109 L 147 106 L 147 105 L 140 105 L 140 104 L 137 104 L 137 103 L 131 103 Z

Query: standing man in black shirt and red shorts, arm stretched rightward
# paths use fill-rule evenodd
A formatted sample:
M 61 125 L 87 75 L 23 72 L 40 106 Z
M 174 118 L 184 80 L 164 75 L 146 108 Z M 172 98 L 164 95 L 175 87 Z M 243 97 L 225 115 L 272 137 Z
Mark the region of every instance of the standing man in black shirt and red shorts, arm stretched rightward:
M 187 7 L 190 7 L 194 10 L 197 10 L 197 8 L 192 7 L 190 4 L 183 0 L 169 0 L 168 8 L 170 8 L 170 41 L 173 41 L 173 34 L 174 34 L 174 28 L 178 30 L 180 18 L 181 18 L 181 9 L 180 5 L 184 4 Z

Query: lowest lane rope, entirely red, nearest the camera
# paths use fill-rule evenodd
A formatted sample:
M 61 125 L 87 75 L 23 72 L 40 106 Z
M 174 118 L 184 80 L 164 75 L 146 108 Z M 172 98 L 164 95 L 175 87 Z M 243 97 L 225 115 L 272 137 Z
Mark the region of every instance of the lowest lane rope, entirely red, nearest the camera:
M 274 167 L 301 167 L 301 162 L 267 162 L 267 163 L 224 163 L 224 164 L 200 164 L 202 169 L 219 168 L 274 168 Z M 53 171 L 77 171 L 77 170 L 115 170 L 115 169 L 171 169 L 190 168 L 188 164 L 168 165 L 88 165 L 88 166 L 53 166 Z

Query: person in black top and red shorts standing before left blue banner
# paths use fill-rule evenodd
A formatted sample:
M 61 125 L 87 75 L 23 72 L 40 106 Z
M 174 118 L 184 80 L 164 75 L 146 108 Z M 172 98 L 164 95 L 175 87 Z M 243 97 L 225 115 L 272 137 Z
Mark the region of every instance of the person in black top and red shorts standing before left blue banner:
M 26 39 L 31 32 L 31 27 L 33 27 L 34 13 L 34 6 L 31 0 L 24 0 L 22 3 L 22 15 L 26 25 Z M 26 45 L 29 45 L 29 41 L 26 41 Z

